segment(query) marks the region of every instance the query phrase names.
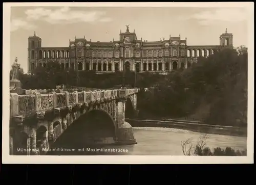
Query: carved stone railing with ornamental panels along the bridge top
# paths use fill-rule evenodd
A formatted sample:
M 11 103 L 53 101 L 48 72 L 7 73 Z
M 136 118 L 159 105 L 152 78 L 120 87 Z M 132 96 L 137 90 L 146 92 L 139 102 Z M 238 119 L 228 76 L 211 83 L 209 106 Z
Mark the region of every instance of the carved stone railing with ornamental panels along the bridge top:
M 123 98 L 139 92 L 139 89 L 118 89 L 103 91 L 73 91 L 73 92 L 50 92 L 40 94 L 37 90 L 28 90 L 26 95 L 10 94 L 10 117 L 35 114 L 40 111 L 50 111 L 56 108 L 63 108 L 69 105 L 90 103 L 91 101 L 110 100 Z M 42 90 L 45 91 L 45 90 Z

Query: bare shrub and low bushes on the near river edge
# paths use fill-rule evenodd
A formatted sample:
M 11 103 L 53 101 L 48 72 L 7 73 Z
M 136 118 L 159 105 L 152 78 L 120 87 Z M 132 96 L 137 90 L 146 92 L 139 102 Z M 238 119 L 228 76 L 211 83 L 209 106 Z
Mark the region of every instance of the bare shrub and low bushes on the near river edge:
M 246 156 L 246 150 L 235 150 L 231 147 L 226 147 L 222 149 L 220 147 L 214 148 L 211 151 L 209 147 L 206 146 L 207 135 L 200 137 L 196 146 L 191 142 L 191 138 L 186 141 L 181 141 L 182 152 L 184 155 L 207 155 L 207 156 Z

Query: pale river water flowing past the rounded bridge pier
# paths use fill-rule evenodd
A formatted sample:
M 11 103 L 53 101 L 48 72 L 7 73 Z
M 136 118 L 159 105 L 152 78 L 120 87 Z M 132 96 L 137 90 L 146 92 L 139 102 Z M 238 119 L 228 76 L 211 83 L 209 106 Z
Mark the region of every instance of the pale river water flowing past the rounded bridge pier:
M 181 141 L 191 139 L 194 144 L 203 133 L 160 127 L 134 127 L 135 145 L 126 146 L 73 146 L 76 151 L 58 151 L 53 155 L 183 155 Z M 213 150 L 216 147 L 244 150 L 246 137 L 207 134 L 206 144 Z M 72 147 L 69 147 L 72 148 Z M 81 148 L 78 151 L 78 148 Z M 94 150 L 95 149 L 95 150 Z M 91 150 L 91 151 L 90 151 Z M 96 151 L 98 150 L 98 151 Z M 49 153 L 50 154 L 50 153 Z

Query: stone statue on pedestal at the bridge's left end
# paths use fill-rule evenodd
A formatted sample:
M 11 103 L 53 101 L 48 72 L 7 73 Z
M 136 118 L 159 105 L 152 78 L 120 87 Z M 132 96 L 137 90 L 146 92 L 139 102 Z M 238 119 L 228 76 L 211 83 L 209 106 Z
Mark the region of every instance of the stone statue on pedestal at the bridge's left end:
M 12 64 L 12 79 L 10 82 L 10 92 L 23 94 L 22 83 L 18 80 L 18 72 L 20 69 L 20 64 L 17 63 L 18 59 L 15 58 L 14 63 Z

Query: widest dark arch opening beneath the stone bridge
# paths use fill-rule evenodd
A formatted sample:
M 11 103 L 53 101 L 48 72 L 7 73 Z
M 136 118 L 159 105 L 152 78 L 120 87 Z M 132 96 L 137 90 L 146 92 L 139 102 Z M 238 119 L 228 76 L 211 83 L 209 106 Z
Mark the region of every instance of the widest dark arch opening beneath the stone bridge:
M 52 148 L 76 149 L 76 151 L 63 151 L 61 153 L 61 155 L 68 155 L 78 152 L 78 148 L 113 144 L 115 143 L 115 140 L 115 122 L 108 113 L 103 110 L 96 109 L 81 115 L 77 120 L 69 125 L 52 144 Z M 50 151 L 47 154 L 53 153 L 56 154 L 55 151 Z

